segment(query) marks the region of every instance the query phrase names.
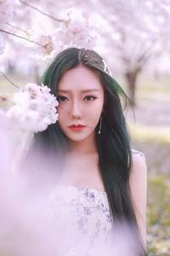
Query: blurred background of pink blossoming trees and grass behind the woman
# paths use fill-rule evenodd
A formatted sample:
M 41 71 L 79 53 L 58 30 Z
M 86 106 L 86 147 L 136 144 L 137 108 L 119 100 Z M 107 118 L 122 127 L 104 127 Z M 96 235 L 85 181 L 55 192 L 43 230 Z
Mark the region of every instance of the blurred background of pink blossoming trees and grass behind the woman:
M 148 166 L 148 254 L 170 255 L 170 1 L 18 0 L 0 14 L 0 108 L 14 84 L 40 83 L 61 49 L 104 57 L 133 105 L 132 148 Z

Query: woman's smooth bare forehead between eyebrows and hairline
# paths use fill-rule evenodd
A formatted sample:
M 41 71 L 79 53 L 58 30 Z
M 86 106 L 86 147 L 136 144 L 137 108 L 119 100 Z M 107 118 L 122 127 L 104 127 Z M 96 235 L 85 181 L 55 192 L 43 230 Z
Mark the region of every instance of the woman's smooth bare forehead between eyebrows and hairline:
M 103 90 L 99 76 L 93 70 L 78 66 L 67 70 L 59 80 L 58 90 Z

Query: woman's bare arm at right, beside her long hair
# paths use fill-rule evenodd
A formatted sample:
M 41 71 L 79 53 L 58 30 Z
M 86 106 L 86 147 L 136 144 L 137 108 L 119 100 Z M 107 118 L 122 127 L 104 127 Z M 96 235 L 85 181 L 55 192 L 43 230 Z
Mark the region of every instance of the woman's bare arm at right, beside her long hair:
M 144 154 L 135 150 L 132 152 L 129 185 L 139 231 L 146 247 L 147 166 Z

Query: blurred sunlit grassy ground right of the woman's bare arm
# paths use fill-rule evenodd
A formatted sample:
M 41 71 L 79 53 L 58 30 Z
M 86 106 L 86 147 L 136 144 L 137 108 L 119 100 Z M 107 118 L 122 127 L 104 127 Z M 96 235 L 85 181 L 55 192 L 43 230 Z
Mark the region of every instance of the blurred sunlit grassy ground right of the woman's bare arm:
M 133 148 L 144 152 L 148 167 L 147 250 L 149 256 L 170 255 L 170 140 L 159 127 L 130 125 Z

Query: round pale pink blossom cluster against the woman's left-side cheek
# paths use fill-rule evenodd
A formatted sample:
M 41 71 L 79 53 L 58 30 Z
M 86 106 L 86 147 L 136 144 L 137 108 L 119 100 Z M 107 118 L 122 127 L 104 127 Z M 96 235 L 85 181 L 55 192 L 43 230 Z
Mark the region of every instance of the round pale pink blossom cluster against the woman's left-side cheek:
M 12 102 L 6 115 L 21 131 L 44 131 L 58 119 L 59 103 L 47 85 L 26 84 L 23 90 L 14 93 Z

